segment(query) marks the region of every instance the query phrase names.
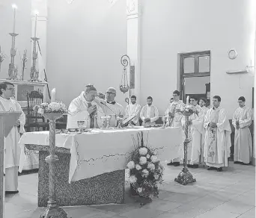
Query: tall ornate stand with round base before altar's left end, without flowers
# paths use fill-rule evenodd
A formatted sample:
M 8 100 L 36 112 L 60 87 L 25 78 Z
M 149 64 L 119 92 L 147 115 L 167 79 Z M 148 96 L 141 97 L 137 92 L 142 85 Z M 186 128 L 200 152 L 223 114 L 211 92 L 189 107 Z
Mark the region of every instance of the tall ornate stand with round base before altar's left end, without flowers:
M 46 157 L 46 163 L 49 163 L 49 200 L 40 218 L 67 218 L 67 213 L 58 208 L 55 196 L 55 163 L 58 161 L 55 155 L 55 123 L 62 113 L 44 113 L 43 116 L 49 119 L 49 156 Z

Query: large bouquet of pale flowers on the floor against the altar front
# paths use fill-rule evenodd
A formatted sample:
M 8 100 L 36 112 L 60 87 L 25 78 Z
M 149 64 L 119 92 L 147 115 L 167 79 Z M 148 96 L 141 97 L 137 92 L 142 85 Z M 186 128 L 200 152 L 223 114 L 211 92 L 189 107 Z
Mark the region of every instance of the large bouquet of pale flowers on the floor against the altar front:
M 138 133 L 138 143 L 132 135 L 135 149 L 131 152 L 127 167 L 129 183 L 139 196 L 145 199 L 158 197 L 159 185 L 162 184 L 163 166 L 153 149 L 144 146 L 143 132 Z

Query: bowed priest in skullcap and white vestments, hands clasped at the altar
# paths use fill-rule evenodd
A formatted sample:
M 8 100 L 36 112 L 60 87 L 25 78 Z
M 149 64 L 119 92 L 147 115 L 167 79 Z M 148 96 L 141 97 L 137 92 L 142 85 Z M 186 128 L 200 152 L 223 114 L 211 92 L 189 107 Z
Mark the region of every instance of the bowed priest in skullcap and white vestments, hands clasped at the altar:
M 86 128 L 97 128 L 101 121 L 98 118 L 103 116 L 103 110 L 94 102 L 97 96 L 96 88 L 88 84 L 85 91 L 70 103 L 67 115 L 67 129 L 79 128 L 77 121 L 85 121 Z M 95 123 L 96 122 L 96 123 Z

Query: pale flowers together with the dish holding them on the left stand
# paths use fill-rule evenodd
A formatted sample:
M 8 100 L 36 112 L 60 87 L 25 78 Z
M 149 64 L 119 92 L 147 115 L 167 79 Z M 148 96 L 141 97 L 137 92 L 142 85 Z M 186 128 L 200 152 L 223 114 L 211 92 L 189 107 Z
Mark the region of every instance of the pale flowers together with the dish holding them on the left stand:
M 51 102 L 49 104 L 45 102 L 40 105 L 35 105 L 33 109 L 42 116 L 46 116 L 47 119 L 61 117 L 63 113 L 67 113 L 67 107 L 62 102 Z M 53 113 L 53 115 L 49 116 L 50 113 Z

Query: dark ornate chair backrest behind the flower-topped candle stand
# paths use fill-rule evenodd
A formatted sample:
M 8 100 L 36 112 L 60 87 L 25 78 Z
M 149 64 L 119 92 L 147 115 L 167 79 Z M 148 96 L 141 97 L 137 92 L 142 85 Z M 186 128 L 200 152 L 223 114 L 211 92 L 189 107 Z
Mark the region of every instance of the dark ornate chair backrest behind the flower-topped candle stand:
M 37 110 L 34 110 L 35 105 L 40 105 L 43 103 L 43 93 L 40 93 L 39 90 L 31 91 L 31 93 L 27 93 L 27 101 L 28 101 L 28 117 L 31 119 L 42 119 L 40 113 L 37 113 Z

